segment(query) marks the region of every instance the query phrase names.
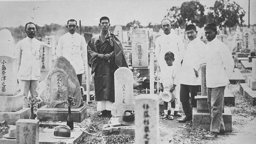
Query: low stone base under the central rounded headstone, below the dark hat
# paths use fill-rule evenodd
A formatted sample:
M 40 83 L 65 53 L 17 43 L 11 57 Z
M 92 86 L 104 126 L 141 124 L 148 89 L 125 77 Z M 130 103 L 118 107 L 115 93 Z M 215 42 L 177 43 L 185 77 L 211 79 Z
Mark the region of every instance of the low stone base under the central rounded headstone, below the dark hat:
M 131 125 L 131 126 L 124 126 L 121 125 L 118 122 L 118 119 L 120 117 L 111 117 L 108 124 L 105 124 L 102 128 L 102 133 L 104 135 L 110 135 L 110 134 L 135 134 L 135 125 Z M 110 127 L 106 127 L 106 126 L 110 126 Z

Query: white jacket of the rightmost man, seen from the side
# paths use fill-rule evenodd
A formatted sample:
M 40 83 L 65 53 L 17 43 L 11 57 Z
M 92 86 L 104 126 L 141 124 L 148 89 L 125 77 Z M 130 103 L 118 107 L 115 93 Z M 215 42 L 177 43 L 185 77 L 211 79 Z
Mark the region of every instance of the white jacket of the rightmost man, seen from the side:
M 234 61 L 227 45 L 215 38 L 207 43 L 206 86 L 217 88 L 229 84 L 228 74 L 233 72 Z

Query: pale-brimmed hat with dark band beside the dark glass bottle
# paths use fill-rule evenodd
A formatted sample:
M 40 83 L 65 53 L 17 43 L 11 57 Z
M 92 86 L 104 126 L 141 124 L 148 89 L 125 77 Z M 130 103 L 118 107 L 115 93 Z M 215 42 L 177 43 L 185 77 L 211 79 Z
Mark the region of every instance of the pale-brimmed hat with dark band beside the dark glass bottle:
M 70 127 L 67 125 L 59 125 L 55 127 L 54 130 L 54 136 L 51 136 L 52 138 L 57 138 L 57 139 L 69 139 L 69 138 L 74 138 L 70 132 Z

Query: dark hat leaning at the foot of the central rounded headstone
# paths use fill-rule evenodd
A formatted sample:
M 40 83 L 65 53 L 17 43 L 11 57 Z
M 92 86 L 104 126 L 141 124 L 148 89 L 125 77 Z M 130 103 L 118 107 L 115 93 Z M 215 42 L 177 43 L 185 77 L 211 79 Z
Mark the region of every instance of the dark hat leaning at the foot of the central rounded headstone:
M 124 115 L 118 119 L 120 124 L 130 126 L 134 125 L 134 111 L 126 110 L 124 111 Z

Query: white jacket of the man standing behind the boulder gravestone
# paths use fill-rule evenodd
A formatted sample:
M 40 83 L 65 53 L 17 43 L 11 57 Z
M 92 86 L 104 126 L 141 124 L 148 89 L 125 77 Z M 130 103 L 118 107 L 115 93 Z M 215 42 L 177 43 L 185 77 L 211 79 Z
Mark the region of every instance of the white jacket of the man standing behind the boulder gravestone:
M 77 75 L 84 73 L 83 65 L 87 62 L 87 45 L 85 38 L 78 33 L 69 32 L 59 38 L 56 55 L 64 56 L 74 67 Z

